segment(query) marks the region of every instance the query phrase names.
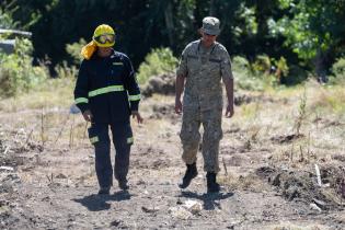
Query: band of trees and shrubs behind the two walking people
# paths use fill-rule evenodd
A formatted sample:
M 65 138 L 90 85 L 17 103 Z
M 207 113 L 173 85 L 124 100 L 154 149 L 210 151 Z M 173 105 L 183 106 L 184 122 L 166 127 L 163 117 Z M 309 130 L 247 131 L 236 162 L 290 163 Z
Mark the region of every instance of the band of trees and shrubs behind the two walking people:
M 131 58 L 143 83 L 174 70 L 207 15 L 221 21 L 218 41 L 232 57 L 240 88 L 297 84 L 308 77 L 344 81 L 345 0 L 2 0 L 0 28 L 33 36 L 32 44 L 18 41 L 13 55 L 0 51 L 0 83 L 8 85 L 1 94 L 37 84 L 46 68 L 74 76 L 80 48 L 101 23 L 116 30 L 115 48 Z

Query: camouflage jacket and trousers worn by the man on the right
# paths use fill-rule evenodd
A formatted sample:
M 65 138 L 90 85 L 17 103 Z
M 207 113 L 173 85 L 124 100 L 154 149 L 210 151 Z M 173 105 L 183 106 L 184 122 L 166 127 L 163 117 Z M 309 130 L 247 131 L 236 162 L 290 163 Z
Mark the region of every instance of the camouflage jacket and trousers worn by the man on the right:
M 204 48 L 200 41 L 189 43 L 182 53 L 177 76 L 185 76 L 181 141 L 183 160 L 196 162 L 199 127 L 203 124 L 203 157 L 206 172 L 219 172 L 219 141 L 222 138 L 221 79 L 232 79 L 230 57 L 219 43 Z

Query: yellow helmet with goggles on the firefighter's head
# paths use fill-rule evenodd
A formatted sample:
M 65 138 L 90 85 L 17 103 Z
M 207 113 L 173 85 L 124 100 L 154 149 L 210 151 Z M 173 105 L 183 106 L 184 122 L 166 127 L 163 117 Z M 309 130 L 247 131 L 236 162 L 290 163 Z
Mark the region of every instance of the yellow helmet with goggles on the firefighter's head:
M 93 32 L 92 41 L 100 47 L 112 47 L 115 45 L 115 32 L 110 25 L 99 25 Z

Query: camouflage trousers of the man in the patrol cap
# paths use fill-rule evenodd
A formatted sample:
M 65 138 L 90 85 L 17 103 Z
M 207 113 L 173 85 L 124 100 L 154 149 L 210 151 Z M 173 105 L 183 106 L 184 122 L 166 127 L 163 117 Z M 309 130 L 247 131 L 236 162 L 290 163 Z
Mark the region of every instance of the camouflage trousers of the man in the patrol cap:
M 222 138 L 221 108 L 208 110 L 183 110 L 183 122 L 180 138 L 183 146 L 182 159 L 185 163 L 196 162 L 196 154 L 200 142 L 199 128 L 203 124 L 204 135 L 202 152 L 204 170 L 206 172 L 219 172 L 219 142 Z

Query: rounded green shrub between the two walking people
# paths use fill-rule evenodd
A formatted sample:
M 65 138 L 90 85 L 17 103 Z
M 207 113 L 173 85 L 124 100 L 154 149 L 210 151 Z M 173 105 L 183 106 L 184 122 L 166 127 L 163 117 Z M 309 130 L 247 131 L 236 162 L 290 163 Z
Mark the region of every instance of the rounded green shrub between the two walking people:
M 177 62 L 170 48 L 152 49 L 139 66 L 138 82 L 143 84 L 152 76 L 174 72 Z

